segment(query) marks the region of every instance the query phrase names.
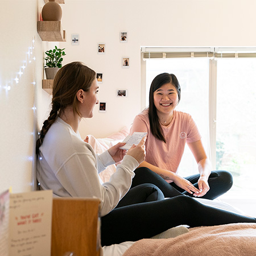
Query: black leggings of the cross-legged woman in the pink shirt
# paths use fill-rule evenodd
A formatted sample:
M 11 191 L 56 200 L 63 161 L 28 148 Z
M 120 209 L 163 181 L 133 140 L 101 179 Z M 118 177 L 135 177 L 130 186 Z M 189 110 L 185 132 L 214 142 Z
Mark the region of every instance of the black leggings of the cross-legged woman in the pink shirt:
M 138 168 L 134 172 L 135 176 L 133 178 L 131 187 L 135 187 L 143 183 L 151 183 L 160 188 L 165 197 L 174 197 L 179 195 L 193 197 L 193 195 L 178 187 L 174 182 L 170 184 L 167 183 L 161 176 L 146 167 Z M 198 188 L 197 181 L 199 177 L 200 175 L 196 174 L 185 177 L 185 179 L 189 180 L 196 188 Z M 226 193 L 232 187 L 233 178 L 232 175 L 227 171 L 212 171 L 209 176 L 208 183 L 210 190 L 201 198 L 213 200 L 216 197 Z

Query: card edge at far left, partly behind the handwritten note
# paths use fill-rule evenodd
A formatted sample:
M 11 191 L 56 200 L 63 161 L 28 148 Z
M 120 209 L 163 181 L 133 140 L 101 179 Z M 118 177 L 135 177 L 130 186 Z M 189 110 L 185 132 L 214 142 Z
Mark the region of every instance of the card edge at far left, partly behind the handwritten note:
M 8 255 L 9 191 L 0 195 L 0 256 Z

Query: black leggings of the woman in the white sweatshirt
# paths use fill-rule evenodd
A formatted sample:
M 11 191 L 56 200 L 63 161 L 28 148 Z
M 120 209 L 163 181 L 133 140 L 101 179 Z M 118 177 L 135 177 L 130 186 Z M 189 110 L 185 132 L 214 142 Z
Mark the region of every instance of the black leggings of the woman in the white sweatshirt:
M 255 218 L 208 207 L 189 196 L 162 199 L 163 193 L 153 184 L 130 189 L 112 212 L 101 217 L 102 246 L 150 238 L 178 225 L 256 222 Z

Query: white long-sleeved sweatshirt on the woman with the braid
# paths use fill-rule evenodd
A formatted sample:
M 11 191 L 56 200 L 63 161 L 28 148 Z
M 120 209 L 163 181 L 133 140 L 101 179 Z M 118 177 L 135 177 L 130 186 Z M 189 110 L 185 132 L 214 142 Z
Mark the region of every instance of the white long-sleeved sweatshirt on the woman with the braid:
M 37 179 L 41 189 L 53 196 L 98 197 L 101 216 L 113 210 L 129 191 L 138 162 L 125 155 L 110 181 L 102 183 L 98 173 L 114 160 L 108 151 L 96 155 L 93 148 L 68 123 L 57 118 L 39 148 Z

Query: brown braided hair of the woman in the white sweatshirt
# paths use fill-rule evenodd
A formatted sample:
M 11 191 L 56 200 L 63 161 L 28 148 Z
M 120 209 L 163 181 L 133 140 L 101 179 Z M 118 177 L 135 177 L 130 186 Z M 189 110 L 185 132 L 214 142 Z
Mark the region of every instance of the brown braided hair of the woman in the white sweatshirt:
M 73 112 L 81 116 L 76 93 L 82 89 L 88 92 L 96 73 L 81 62 L 72 62 L 64 65 L 56 74 L 52 90 L 52 110 L 48 119 L 44 121 L 39 139 L 36 141 L 36 154 L 42 145 L 49 127 L 56 121 L 58 115 L 67 106 L 73 106 Z

